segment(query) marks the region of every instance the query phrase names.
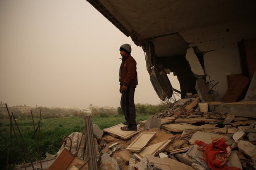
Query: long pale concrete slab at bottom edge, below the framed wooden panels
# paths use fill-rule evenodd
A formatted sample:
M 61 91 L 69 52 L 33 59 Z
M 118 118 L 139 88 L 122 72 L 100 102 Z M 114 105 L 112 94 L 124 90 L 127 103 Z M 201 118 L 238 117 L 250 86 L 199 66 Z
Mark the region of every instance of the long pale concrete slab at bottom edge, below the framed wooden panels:
M 142 163 L 141 163 L 142 162 Z M 171 158 L 156 158 L 152 155 L 145 157 L 135 167 L 139 170 L 160 169 L 160 170 L 191 170 L 192 167 Z

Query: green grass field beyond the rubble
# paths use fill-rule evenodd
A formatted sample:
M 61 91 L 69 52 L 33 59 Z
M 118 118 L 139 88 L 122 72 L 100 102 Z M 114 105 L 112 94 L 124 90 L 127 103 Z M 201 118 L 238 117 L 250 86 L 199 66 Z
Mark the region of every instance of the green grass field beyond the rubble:
M 151 116 L 137 114 L 137 122 L 146 120 L 149 117 Z M 92 116 L 92 124 L 97 124 L 100 127 L 100 129 L 109 128 L 123 121 L 123 115 L 114 115 L 109 117 Z M 36 126 L 35 128 L 37 128 L 39 119 L 34 118 L 34 122 Z M 28 118 L 18 119 L 17 125 L 19 126 L 19 130 L 17 129 L 15 122 L 13 121 L 12 123 L 14 125 L 14 130 L 25 162 L 29 163 L 30 159 L 24 147 L 24 143 L 21 139 L 21 136 L 19 135 L 19 130 L 25 141 L 28 153 L 31 156 L 32 161 L 36 161 L 37 145 L 34 136 L 32 120 Z M 72 132 L 82 132 L 84 129 L 84 119 L 75 116 L 50 119 L 42 118 L 40 124 L 41 126 L 39 137 L 39 149 L 41 159 L 45 158 L 46 153 L 56 154 L 59 148 L 61 147 L 60 142 L 64 136 L 68 136 Z M 38 133 L 36 133 L 36 135 L 37 134 Z M 6 170 L 7 154 L 10 144 L 12 144 L 12 146 L 11 151 L 9 152 L 9 169 L 14 168 L 15 165 L 21 164 L 21 154 L 13 130 L 12 137 L 10 138 L 9 119 L 0 119 L 0 141 L 0 169 Z

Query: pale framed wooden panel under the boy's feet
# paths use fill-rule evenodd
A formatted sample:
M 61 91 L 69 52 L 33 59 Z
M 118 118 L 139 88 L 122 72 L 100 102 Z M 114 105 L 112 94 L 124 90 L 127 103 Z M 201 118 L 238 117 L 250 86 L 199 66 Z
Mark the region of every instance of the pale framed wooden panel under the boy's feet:
M 103 132 L 107 132 L 111 135 L 118 136 L 121 139 L 126 140 L 126 139 L 129 139 L 129 138 L 133 137 L 133 135 L 135 135 L 135 134 L 141 132 L 142 130 L 144 130 L 142 128 L 137 127 L 137 131 L 123 131 L 123 130 L 121 130 L 121 127 L 123 127 L 123 126 L 125 126 L 125 125 L 120 123 L 116 126 L 112 126 L 110 128 L 103 129 Z

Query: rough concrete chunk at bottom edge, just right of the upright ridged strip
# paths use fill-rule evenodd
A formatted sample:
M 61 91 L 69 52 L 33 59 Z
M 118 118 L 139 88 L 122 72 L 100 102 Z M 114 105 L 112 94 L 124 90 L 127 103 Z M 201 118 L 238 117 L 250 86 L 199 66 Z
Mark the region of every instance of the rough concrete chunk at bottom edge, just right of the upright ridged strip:
M 100 168 L 101 170 L 120 170 L 119 165 L 115 158 L 111 158 L 108 154 L 103 154 L 100 159 Z

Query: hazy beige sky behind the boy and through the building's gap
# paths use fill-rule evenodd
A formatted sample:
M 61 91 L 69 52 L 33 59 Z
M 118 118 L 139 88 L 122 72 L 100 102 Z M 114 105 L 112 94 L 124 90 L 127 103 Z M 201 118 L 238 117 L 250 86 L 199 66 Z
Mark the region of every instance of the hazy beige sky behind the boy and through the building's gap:
M 142 49 L 86 0 L 0 0 L 0 101 L 118 107 L 124 43 L 137 61 L 135 103 L 159 104 Z

